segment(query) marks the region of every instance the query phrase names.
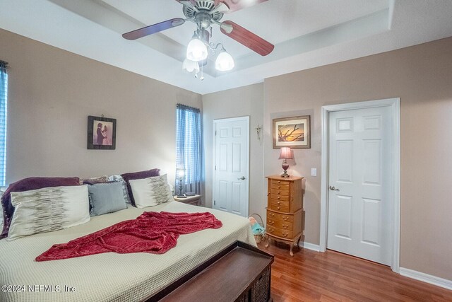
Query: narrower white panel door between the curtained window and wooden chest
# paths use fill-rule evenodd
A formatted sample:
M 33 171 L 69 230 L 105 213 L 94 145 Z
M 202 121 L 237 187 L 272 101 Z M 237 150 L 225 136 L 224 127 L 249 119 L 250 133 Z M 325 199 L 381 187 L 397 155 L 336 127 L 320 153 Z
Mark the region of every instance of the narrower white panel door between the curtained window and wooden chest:
M 249 117 L 214 121 L 213 208 L 248 216 Z

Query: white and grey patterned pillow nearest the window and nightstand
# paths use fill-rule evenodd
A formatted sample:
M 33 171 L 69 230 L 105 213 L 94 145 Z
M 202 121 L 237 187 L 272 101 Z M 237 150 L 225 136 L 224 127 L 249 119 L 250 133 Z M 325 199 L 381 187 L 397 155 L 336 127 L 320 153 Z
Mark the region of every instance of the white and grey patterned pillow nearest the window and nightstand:
M 129 181 L 137 208 L 156 206 L 174 201 L 167 175 Z

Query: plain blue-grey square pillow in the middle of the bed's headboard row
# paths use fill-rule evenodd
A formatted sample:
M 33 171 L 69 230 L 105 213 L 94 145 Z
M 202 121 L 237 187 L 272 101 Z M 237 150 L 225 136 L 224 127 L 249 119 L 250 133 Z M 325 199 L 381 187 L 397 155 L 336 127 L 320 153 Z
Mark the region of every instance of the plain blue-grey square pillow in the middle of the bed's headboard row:
M 121 182 L 105 182 L 88 186 L 91 216 L 97 216 L 126 209 L 126 200 Z

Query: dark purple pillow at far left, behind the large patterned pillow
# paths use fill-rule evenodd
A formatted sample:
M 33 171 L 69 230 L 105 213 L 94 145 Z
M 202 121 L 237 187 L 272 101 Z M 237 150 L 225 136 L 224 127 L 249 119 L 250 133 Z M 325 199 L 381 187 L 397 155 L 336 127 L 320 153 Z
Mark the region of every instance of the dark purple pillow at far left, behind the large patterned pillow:
M 79 178 L 24 178 L 18 180 L 6 189 L 1 197 L 1 207 L 3 207 L 3 231 L 0 239 L 8 236 L 9 225 L 13 219 L 14 207 L 11 204 L 11 192 L 23 192 L 41 189 L 42 187 L 60 187 L 69 185 L 80 185 Z

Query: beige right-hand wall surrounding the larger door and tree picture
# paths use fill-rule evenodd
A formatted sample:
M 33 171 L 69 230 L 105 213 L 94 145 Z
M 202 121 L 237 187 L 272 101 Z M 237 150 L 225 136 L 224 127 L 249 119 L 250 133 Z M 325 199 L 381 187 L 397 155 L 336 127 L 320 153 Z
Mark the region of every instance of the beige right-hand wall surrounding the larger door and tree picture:
M 452 280 L 452 37 L 266 79 L 264 174 L 280 171 L 271 119 L 311 115 L 311 149 L 290 172 L 307 178 L 305 240 L 319 244 L 321 106 L 400 98 L 400 266 Z M 318 176 L 311 177 L 311 168 Z M 264 187 L 264 190 L 265 187 Z

